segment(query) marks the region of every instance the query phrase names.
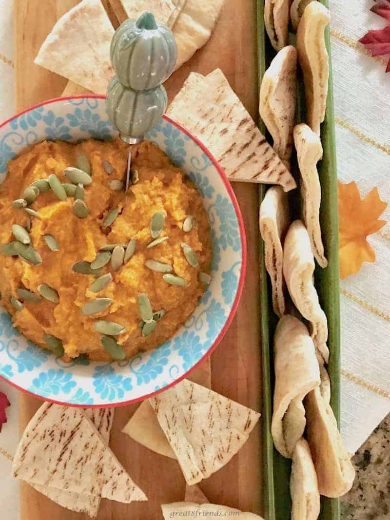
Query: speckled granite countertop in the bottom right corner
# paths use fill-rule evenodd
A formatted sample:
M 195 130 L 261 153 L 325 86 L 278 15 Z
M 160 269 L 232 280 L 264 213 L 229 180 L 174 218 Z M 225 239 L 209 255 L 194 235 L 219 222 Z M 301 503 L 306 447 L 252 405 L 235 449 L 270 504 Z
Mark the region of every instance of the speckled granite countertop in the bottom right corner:
M 356 479 L 341 499 L 342 520 L 390 520 L 390 414 L 352 460 Z

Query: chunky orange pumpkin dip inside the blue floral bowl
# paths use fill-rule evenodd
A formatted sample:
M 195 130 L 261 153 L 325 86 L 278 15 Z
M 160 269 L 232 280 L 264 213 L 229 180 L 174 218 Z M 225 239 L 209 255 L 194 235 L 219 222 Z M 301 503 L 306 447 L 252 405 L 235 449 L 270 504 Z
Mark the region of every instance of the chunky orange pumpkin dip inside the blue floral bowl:
M 9 162 L 8 176 L 0 187 L 0 244 L 15 240 L 11 226 L 25 227 L 29 214 L 17 209 L 12 201 L 23 198 L 24 190 L 38 179 L 56 174 L 61 183 L 64 168 L 76 166 L 77 157 L 86 155 L 92 170 L 92 183 L 85 188 L 84 202 L 89 214 L 77 217 L 72 209 L 73 197 L 60 200 L 52 189 L 40 193 L 29 204 L 39 217 L 32 216 L 31 246 L 42 257 L 39 265 L 30 265 L 20 256 L 0 255 L 0 291 L 2 304 L 12 315 L 15 326 L 32 342 L 47 348 L 45 334 L 58 338 L 63 345 L 64 359 L 87 354 L 93 360 L 110 360 L 111 356 L 101 343 L 101 333 L 94 327 L 97 320 L 121 324 L 125 331 L 115 335 L 126 357 L 138 350 L 154 348 L 168 340 L 193 313 L 204 285 L 199 281 L 201 271 L 208 272 L 211 261 L 211 238 L 202 199 L 190 179 L 170 159 L 149 141 L 133 147 L 132 168 L 139 180 L 127 194 L 112 189 L 111 181 L 124 180 L 128 146 L 119 139 L 107 142 L 83 141 L 78 145 L 66 142 L 42 142 L 27 149 Z M 112 167 L 107 173 L 105 164 Z M 111 168 L 109 168 L 111 170 Z M 110 185 L 111 183 L 111 185 Z M 111 226 L 103 222 L 113 207 L 119 215 Z M 150 223 L 156 212 L 166 213 L 164 227 L 159 235 L 168 237 L 160 244 L 147 248 L 153 240 Z M 183 223 L 194 217 L 194 226 L 188 232 Z M 44 240 L 51 235 L 59 250 L 52 251 Z M 114 271 L 108 263 L 99 275 L 79 274 L 72 270 L 76 262 L 93 262 L 100 248 L 107 244 L 123 244 L 136 239 L 133 256 Z M 196 252 L 199 266 L 189 265 L 183 242 Z M 148 259 L 172 266 L 172 274 L 186 281 L 186 287 L 167 283 L 163 272 L 145 266 Z M 90 285 L 102 274 L 111 272 L 112 281 L 100 292 L 90 291 Z M 58 303 L 44 297 L 40 301 L 23 301 L 18 297 L 20 288 L 38 294 L 38 286 L 46 284 L 58 293 Z M 164 309 L 154 331 L 147 336 L 140 329 L 140 309 L 137 297 L 145 293 L 153 311 Z M 23 304 L 16 310 L 10 298 Z M 95 298 L 110 298 L 112 303 L 100 313 L 84 315 L 82 307 Z

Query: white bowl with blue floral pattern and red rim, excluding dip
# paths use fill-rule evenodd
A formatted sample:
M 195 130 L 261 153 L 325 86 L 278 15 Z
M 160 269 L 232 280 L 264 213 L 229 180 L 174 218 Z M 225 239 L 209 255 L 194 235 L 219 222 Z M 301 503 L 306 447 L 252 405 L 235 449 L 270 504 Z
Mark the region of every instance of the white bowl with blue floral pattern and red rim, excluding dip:
M 103 96 L 53 99 L 0 125 L 0 182 L 7 163 L 23 148 L 44 139 L 110 139 Z M 0 376 L 20 390 L 71 406 L 119 406 L 171 386 L 210 355 L 225 334 L 241 295 L 245 234 L 226 176 L 210 152 L 183 127 L 164 116 L 150 132 L 155 142 L 196 184 L 209 216 L 213 239 L 212 282 L 191 318 L 152 352 L 119 362 L 64 363 L 25 339 L 0 308 Z

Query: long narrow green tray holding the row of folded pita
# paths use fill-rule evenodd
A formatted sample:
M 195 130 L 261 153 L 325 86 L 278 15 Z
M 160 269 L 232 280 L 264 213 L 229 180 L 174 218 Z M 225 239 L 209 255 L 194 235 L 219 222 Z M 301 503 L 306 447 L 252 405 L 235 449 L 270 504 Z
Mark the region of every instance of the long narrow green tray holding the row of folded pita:
M 328 0 L 321 0 L 328 7 Z M 258 45 L 258 85 L 263 74 L 275 56 L 264 29 L 264 0 L 257 0 L 257 45 Z M 290 36 L 291 43 L 294 35 Z M 326 44 L 330 55 L 329 28 L 326 31 Z M 337 421 L 340 419 L 340 288 L 339 288 L 339 217 L 337 212 L 337 172 L 336 149 L 334 137 L 334 111 L 332 92 L 332 68 L 330 67 L 329 91 L 325 121 L 321 127 L 323 159 L 318 164 L 322 189 L 321 227 L 322 237 L 328 258 L 326 269 L 316 268 L 315 280 L 320 303 L 328 317 L 330 361 L 329 375 L 332 384 L 331 406 Z M 298 79 L 297 122 L 304 121 L 305 103 L 302 78 Z M 259 128 L 264 133 L 263 122 Z M 296 174 L 296 161 L 293 173 Z M 263 200 L 266 187 L 259 188 L 260 201 Z M 296 193 L 295 193 L 296 192 Z M 298 190 L 292 194 L 292 206 L 296 208 L 293 217 L 299 217 L 300 201 Z M 284 459 L 274 448 L 271 436 L 272 392 L 274 388 L 274 362 L 272 359 L 272 337 L 277 317 L 270 307 L 270 283 L 264 264 L 264 244 L 260 246 L 261 266 L 261 305 L 262 305 L 262 362 L 263 362 L 263 428 L 264 428 L 264 509 L 267 520 L 287 520 L 290 518 L 291 501 L 289 480 L 291 463 Z M 321 520 L 339 520 L 340 509 L 338 499 L 321 499 Z

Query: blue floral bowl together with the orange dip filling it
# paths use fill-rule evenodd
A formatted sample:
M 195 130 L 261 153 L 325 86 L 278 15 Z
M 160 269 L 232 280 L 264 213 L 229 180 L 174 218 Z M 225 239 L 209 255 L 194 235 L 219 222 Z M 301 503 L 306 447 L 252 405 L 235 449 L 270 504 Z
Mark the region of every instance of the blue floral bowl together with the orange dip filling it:
M 0 208 L 1 242 L 15 241 L 8 224 L 31 226 L 31 244 L 25 245 L 35 246 L 42 259 L 37 265 L 21 259 L 20 245 L 19 256 L 0 258 L 4 293 L 0 375 L 22 390 L 61 404 L 126 404 L 183 379 L 222 339 L 242 289 L 242 218 L 231 187 L 210 153 L 164 117 L 146 141 L 134 147 L 138 178 L 125 198 L 122 190 L 112 187 L 119 188 L 123 179 L 127 146 L 119 140 L 84 141 L 115 137 L 105 98 L 98 96 L 51 100 L 0 128 L 1 180 L 8 162 L 22 154 L 9 166 L 5 185 L 9 187 Z M 56 142 L 39 144 L 45 140 Z M 74 147 L 61 141 L 84 142 Z M 83 211 L 77 215 L 74 194 L 63 200 L 53 189 L 29 203 L 28 209 L 38 215 L 10 206 L 11 199 L 23 197 L 31 180 L 54 173 L 64 183 L 68 179 L 61 177 L 63 170 L 85 158 L 92 166 L 92 179 L 96 177 L 95 187 L 94 182 L 87 183 L 81 192 L 87 216 Z M 19 186 L 10 183 L 12 176 Z M 79 201 L 77 205 L 83 206 L 82 198 Z M 109 210 L 115 208 L 118 216 L 111 223 Z M 18 215 L 16 219 L 12 213 Z M 153 229 L 156 213 L 160 224 Z M 28 218 L 31 221 L 25 224 Z M 135 252 L 115 267 L 110 258 L 113 250 L 105 250 L 119 245 L 126 251 L 132 238 Z M 101 262 L 94 264 L 97 255 Z M 93 272 L 77 272 L 78 262 Z M 204 283 L 208 274 L 210 285 Z M 95 292 L 94 283 L 103 275 L 102 283 L 107 285 Z M 29 301 L 24 290 L 31 290 L 36 301 Z M 151 303 L 151 325 L 145 312 L 139 314 L 145 307 L 140 294 Z M 96 299 L 108 306 L 89 314 L 88 304 Z M 125 330 L 110 329 L 111 322 Z M 108 338 L 108 346 L 101 336 Z M 53 337 L 64 347 L 62 356 L 58 349 L 56 356 L 42 348 L 53 348 Z M 115 344 L 123 352 L 118 354 Z M 123 359 L 113 361 L 114 357 Z

